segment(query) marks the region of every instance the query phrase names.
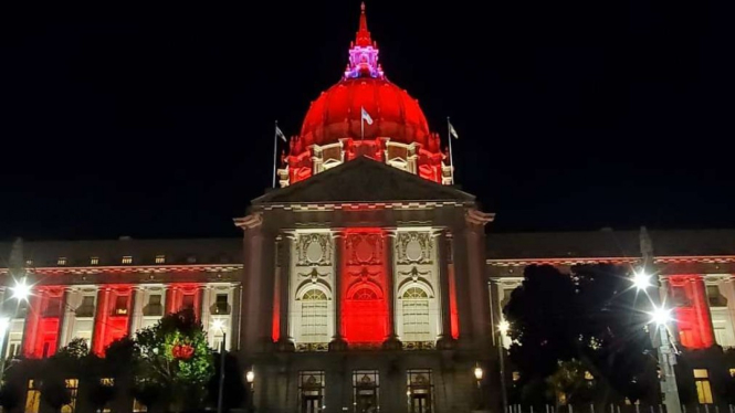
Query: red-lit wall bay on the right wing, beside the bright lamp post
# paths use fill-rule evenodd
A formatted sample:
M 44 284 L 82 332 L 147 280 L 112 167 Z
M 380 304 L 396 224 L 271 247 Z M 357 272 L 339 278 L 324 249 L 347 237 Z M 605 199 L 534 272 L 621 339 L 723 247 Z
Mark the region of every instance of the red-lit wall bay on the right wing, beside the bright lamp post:
M 710 307 L 704 279 L 699 275 L 669 277 L 670 297 L 676 306 L 675 319 L 679 341 L 690 349 L 705 349 L 714 345 Z

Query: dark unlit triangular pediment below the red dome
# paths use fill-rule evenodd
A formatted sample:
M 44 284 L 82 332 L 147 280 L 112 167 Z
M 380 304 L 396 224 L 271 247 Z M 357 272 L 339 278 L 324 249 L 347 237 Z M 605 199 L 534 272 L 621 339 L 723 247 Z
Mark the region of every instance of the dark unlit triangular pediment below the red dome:
M 263 203 L 473 202 L 474 195 L 360 157 L 253 200 Z

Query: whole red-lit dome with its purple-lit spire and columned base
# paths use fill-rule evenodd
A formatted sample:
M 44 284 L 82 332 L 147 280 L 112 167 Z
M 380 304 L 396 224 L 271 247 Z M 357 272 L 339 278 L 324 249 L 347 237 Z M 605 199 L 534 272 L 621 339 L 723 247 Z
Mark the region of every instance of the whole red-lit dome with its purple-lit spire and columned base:
M 378 54 L 363 3 L 343 78 L 312 102 L 301 134 L 282 155 L 284 168 L 277 170 L 282 186 L 360 156 L 434 182 L 451 182 L 439 135 L 429 130 L 419 102 L 386 78 Z

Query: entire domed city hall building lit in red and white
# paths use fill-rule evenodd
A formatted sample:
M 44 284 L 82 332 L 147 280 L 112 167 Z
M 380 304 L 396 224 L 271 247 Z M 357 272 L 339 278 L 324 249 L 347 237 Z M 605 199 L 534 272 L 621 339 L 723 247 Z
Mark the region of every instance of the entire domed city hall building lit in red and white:
M 342 80 L 280 165 L 281 188 L 234 220 L 241 240 L 0 245 L 4 356 L 49 357 L 73 338 L 101 353 L 190 307 L 212 348 L 211 326 L 225 326 L 262 412 L 496 409 L 510 343 L 496 326 L 524 266 L 638 265 L 645 248 L 675 298 L 679 345 L 735 346 L 735 231 L 494 234 L 418 102 L 386 77 L 364 7 Z M 21 308 L 13 260 L 34 283 Z

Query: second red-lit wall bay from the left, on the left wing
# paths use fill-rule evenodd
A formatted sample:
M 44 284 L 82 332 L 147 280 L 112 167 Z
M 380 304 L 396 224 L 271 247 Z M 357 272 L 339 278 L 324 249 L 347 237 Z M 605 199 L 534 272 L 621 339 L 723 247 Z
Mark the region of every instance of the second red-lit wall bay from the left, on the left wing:
M 119 309 L 116 308 L 118 297 L 125 300 Z M 92 340 L 92 350 L 97 354 L 103 356 L 109 343 L 128 335 L 132 298 L 133 288 L 129 285 L 107 285 L 99 289 Z

